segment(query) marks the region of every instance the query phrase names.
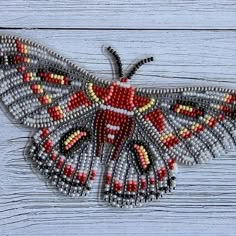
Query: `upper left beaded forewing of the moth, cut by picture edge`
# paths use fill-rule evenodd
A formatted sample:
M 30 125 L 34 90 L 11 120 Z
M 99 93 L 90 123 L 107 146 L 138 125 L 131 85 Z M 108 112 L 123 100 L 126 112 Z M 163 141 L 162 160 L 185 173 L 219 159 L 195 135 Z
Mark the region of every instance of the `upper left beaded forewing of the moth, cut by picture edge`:
M 98 81 L 42 45 L 0 35 L 1 99 L 27 126 L 57 125 L 79 115 L 82 108 L 90 109 L 94 102 L 88 84 Z

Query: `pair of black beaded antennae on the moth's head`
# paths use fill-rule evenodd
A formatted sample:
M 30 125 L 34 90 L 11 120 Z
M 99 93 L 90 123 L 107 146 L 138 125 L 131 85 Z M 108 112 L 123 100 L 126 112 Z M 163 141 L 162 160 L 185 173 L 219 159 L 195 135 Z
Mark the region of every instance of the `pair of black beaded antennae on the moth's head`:
M 121 83 L 126 83 L 128 82 L 132 76 L 136 73 L 136 71 L 144 64 L 151 62 L 154 60 L 153 57 L 147 57 L 144 58 L 140 61 L 138 61 L 136 64 L 134 64 L 130 70 L 128 70 L 125 74 L 123 73 L 123 68 L 122 68 L 122 63 L 121 63 L 121 59 L 120 56 L 118 55 L 118 53 L 112 49 L 111 47 L 107 48 L 107 51 L 112 55 L 114 61 L 115 61 L 115 66 L 116 66 L 116 71 L 118 73 L 118 79 Z

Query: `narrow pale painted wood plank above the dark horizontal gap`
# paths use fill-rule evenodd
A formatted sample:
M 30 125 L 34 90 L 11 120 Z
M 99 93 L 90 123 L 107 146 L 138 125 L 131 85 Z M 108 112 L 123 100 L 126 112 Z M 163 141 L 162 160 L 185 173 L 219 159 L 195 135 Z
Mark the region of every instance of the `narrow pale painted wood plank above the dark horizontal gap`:
M 0 1 L 1 27 L 232 29 L 234 0 Z

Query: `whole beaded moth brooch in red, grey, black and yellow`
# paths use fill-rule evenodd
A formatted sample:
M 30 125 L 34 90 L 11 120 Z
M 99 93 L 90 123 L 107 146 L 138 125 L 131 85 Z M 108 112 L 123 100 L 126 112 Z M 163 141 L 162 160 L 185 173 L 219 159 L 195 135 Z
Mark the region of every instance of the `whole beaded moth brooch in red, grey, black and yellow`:
M 0 36 L 0 94 L 13 117 L 36 129 L 29 155 L 61 192 L 86 195 L 104 159 L 104 200 L 141 206 L 175 188 L 176 162 L 194 165 L 235 147 L 234 90 L 135 88 L 96 78 L 39 44 Z

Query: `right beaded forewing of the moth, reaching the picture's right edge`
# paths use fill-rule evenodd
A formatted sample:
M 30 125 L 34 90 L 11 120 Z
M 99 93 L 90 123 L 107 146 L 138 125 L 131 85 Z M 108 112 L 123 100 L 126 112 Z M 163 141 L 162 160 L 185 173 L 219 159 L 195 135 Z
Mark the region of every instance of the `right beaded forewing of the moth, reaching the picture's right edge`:
M 194 165 L 235 147 L 234 90 L 197 87 L 144 90 L 153 106 L 140 112 L 157 145 L 180 163 Z

